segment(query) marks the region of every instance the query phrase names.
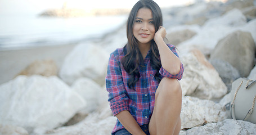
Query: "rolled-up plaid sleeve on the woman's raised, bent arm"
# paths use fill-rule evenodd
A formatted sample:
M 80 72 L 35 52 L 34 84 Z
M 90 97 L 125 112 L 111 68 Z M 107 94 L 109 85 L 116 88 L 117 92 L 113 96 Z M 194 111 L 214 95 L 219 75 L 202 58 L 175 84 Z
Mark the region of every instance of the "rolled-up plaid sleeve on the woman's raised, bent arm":
M 178 56 L 178 53 L 176 52 L 176 48 L 171 45 L 171 44 L 167 44 L 167 46 L 170 48 L 170 50 L 174 53 L 174 55 Z M 180 70 L 178 74 L 170 74 L 167 70 L 165 70 L 163 67 L 160 68 L 159 73 L 163 76 L 163 77 L 167 77 L 167 78 L 173 78 L 173 79 L 178 79 L 181 80 L 182 79 L 182 75 L 184 72 L 184 67 L 183 64 L 181 63 L 180 66 Z

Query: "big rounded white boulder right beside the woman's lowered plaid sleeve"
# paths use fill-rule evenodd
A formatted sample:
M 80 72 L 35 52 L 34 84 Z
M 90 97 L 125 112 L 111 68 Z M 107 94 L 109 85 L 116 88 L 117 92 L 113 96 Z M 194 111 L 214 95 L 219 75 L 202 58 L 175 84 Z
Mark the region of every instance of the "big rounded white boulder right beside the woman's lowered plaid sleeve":
M 66 57 L 59 75 L 70 85 L 83 77 L 104 84 L 108 60 L 109 55 L 96 44 L 79 44 Z

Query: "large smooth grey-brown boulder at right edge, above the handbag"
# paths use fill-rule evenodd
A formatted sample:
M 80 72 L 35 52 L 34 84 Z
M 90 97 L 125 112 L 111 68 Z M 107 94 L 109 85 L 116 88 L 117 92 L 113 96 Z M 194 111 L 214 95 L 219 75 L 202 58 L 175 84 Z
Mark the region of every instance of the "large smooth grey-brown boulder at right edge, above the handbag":
M 229 62 L 239 70 L 241 77 L 247 77 L 254 65 L 255 43 L 251 34 L 235 31 L 219 40 L 210 59 L 221 59 Z

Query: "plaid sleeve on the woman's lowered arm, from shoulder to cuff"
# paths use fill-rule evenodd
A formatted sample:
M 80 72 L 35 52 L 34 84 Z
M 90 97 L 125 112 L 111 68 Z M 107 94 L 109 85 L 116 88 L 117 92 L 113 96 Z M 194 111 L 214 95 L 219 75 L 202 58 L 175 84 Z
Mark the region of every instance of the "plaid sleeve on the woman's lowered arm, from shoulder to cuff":
M 110 109 L 114 116 L 128 110 L 128 97 L 124 88 L 122 70 L 114 53 L 111 53 L 107 66 L 106 89 L 109 92 Z

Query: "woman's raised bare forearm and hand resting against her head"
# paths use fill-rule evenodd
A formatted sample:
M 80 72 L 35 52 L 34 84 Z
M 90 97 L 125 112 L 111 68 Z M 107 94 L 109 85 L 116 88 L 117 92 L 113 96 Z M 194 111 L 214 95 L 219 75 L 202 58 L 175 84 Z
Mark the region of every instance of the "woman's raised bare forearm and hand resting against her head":
M 178 74 L 181 70 L 181 60 L 174 55 L 174 53 L 169 49 L 167 44 L 165 44 L 163 38 L 166 35 L 165 28 L 160 26 L 159 30 L 155 33 L 155 43 L 158 46 L 158 50 L 160 53 L 161 64 L 165 70 L 167 70 L 170 74 Z

